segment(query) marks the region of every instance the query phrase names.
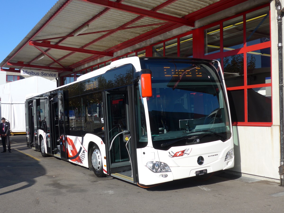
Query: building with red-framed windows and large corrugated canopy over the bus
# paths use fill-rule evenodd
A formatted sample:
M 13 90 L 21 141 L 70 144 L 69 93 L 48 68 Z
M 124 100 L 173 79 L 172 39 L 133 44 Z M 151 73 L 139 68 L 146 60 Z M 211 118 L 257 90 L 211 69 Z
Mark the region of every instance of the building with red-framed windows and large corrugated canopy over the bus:
M 0 66 L 17 73 L 24 67 L 58 72 L 63 85 L 124 57 L 217 59 L 235 137 L 235 167 L 228 172 L 284 183 L 277 26 L 283 5 L 282 0 L 59 0 Z

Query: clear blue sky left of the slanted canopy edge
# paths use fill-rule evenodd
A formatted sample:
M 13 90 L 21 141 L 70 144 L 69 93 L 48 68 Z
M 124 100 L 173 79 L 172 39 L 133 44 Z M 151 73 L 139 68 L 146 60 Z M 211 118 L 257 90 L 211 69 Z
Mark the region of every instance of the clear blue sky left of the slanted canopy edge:
M 0 0 L 0 62 L 56 2 L 57 0 Z

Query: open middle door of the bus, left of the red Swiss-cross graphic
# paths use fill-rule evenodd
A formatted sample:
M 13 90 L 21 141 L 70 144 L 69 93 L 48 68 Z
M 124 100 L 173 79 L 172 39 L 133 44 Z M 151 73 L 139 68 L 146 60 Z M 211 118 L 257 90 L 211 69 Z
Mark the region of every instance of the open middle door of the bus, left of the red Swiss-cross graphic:
M 67 160 L 67 146 L 65 135 L 65 115 L 63 103 L 63 91 L 53 93 L 50 100 L 50 136 L 52 154 L 60 156 L 62 160 Z

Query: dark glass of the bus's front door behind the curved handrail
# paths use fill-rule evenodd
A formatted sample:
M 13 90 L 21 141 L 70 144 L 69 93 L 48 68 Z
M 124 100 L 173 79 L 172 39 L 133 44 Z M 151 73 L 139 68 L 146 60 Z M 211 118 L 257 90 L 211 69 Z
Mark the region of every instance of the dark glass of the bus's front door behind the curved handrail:
M 129 154 L 131 154 L 131 132 L 128 93 L 127 91 L 106 91 L 105 101 L 105 135 L 110 173 L 129 171 L 130 176 L 132 176 L 129 158 Z

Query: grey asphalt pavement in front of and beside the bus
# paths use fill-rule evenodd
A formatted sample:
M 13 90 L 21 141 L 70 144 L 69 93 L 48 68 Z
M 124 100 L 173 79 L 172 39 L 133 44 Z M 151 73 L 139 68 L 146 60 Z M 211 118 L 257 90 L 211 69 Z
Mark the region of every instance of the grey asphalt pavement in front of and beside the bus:
M 142 188 L 43 158 L 25 135 L 11 136 L 11 148 L 0 153 L 0 213 L 283 212 L 284 187 L 272 181 L 220 171 Z

